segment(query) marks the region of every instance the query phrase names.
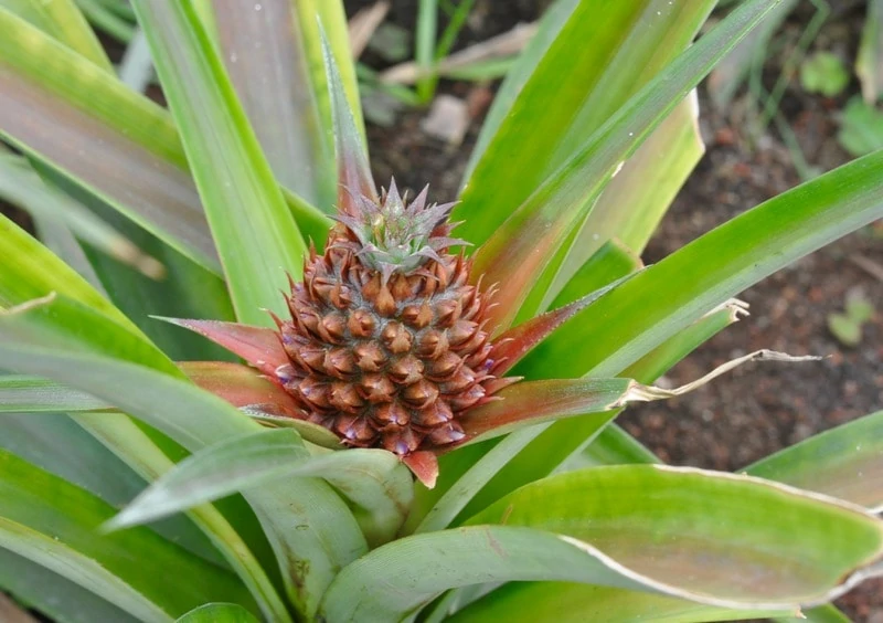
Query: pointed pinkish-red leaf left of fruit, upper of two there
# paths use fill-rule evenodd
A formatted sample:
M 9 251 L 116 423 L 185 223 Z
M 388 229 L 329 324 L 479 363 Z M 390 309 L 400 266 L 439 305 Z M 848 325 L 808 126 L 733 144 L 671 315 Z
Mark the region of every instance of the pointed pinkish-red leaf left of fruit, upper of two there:
M 273 329 L 217 320 L 188 320 L 159 316 L 155 316 L 155 318 L 184 327 L 209 338 L 274 379 L 276 369 L 289 362 L 279 340 L 279 334 Z

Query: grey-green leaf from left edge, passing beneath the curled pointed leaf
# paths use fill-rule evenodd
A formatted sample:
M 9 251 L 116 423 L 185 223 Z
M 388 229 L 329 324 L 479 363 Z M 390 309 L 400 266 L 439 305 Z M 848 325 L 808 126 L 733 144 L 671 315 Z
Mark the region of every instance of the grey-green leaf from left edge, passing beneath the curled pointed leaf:
M 57 346 L 45 348 L 36 338 L 22 340 L 9 332 L 7 323 L 0 323 L 0 336 L 6 366 L 114 402 L 191 452 L 259 430 L 221 399 L 170 376 L 106 357 L 64 352 Z M 352 514 L 325 483 L 290 479 L 249 490 L 245 497 L 274 546 L 289 599 L 306 612 L 316 608 L 334 569 L 366 549 Z M 274 616 L 287 619 L 278 611 Z

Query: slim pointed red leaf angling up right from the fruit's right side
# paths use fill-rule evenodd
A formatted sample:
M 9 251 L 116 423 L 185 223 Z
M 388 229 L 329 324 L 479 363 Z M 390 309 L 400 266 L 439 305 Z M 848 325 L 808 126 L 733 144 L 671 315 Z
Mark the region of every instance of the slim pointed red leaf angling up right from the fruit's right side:
M 631 275 L 617 279 L 608 286 L 596 289 L 595 292 L 585 295 L 584 297 L 574 300 L 573 303 L 560 307 L 553 312 L 547 312 L 541 316 L 536 316 L 522 323 L 517 327 L 496 338 L 496 346 L 491 352 L 491 359 L 496 361 L 491 373 L 502 376 L 512 367 L 518 363 L 522 357 L 530 352 L 534 346 L 543 341 L 555 329 L 561 327 L 564 323 L 573 318 L 576 314 L 592 305 L 598 298 L 614 289 L 616 286 L 628 279 Z

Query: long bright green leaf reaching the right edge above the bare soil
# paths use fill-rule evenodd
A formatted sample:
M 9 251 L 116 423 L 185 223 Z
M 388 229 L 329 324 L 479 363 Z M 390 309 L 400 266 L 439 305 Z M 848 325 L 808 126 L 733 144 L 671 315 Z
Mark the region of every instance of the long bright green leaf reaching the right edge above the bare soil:
M 740 291 L 883 217 L 881 168 L 873 154 L 741 214 L 603 296 L 566 340 L 553 335 L 522 365 L 542 361 L 545 378 L 619 373 Z

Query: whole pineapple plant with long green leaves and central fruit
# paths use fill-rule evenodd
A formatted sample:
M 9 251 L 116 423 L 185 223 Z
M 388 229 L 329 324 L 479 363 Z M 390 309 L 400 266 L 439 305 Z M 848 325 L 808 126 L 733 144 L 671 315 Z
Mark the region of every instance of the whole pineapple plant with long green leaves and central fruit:
M 433 203 L 376 190 L 339 2 L 134 0 L 168 110 L 73 2 L 0 2 L 0 167 L 42 209 L 41 241 L 0 220 L 0 589 L 57 621 L 840 616 L 881 571 L 883 414 L 738 474 L 614 423 L 797 359 L 651 384 L 883 214 L 872 154 L 640 264 L 691 91 L 776 3 L 693 42 L 713 4 L 558 0 Z

